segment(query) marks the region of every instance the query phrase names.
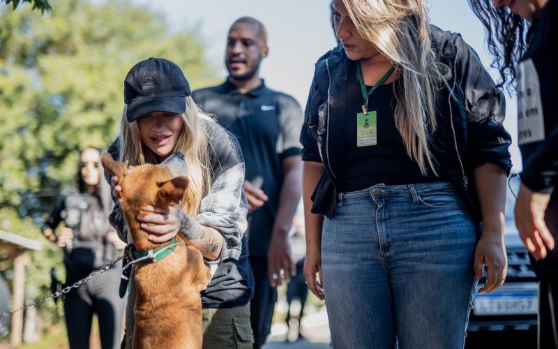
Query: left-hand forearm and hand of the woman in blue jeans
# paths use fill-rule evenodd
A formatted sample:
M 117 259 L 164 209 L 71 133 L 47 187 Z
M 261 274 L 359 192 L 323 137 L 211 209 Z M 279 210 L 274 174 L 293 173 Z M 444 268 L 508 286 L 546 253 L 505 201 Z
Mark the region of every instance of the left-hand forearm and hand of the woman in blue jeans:
M 302 198 L 304 203 L 304 226 L 306 229 L 306 258 L 304 276 L 308 288 L 320 300 L 324 300 L 322 284 L 322 226 L 323 214 L 312 214 L 312 193 L 324 174 L 324 164 L 305 161 L 302 168 Z M 319 281 L 317 280 L 319 279 Z

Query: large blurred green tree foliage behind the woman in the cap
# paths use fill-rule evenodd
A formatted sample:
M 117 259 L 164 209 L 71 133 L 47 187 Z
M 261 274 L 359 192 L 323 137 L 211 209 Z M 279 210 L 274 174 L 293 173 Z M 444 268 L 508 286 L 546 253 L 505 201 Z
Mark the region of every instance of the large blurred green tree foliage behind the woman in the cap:
M 80 149 L 114 140 L 124 77 L 148 57 L 176 62 L 194 86 L 216 82 L 192 31 L 171 35 L 128 1 L 57 0 L 44 15 L 0 8 L 0 229 L 45 241 L 31 221 L 75 184 Z M 49 253 L 34 262 L 50 267 Z M 47 285 L 33 268 L 32 282 Z

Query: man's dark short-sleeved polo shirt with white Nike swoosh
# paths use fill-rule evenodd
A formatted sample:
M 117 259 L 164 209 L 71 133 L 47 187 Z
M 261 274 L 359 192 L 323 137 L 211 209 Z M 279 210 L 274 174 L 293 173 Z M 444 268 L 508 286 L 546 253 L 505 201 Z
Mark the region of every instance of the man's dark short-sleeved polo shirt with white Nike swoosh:
M 262 84 L 246 94 L 226 80 L 193 92 L 194 101 L 230 133 L 236 135 L 246 161 L 246 179 L 269 200 L 248 216 L 250 255 L 266 257 L 284 181 L 282 160 L 299 155 L 303 113 L 292 96 Z

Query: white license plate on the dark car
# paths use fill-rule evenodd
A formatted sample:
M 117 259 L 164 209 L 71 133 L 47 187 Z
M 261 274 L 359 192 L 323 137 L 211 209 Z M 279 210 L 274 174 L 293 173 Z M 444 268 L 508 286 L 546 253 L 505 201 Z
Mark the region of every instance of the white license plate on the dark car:
M 497 293 L 477 295 L 473 302 L 475 315 L 536 314 L 536 293 Z

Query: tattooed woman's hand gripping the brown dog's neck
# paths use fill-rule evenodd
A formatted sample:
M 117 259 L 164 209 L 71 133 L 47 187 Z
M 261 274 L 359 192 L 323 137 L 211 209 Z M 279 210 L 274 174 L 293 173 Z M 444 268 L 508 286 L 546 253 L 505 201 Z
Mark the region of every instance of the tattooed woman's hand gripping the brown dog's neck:
M 149 233 L 149 241 L 157 244 L 168 242 L 181 228 L 181 209 L 179 205 L 169 207 L 140 207 L 142 214 L 137 215 L 140 227 Z

